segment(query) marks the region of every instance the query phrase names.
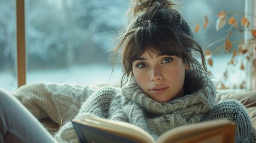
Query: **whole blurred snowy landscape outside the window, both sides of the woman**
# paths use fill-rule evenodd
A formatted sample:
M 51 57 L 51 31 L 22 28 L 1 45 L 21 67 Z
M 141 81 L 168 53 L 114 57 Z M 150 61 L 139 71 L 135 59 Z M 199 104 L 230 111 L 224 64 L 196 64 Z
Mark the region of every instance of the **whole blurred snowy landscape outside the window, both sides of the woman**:
M 232 0 L 182 0 L 182 14 L 195 29 L 209 17 L 209 26 L 195 32 L 195 39 L 206 49 L 211 43 L 227 35 L 225 30 L 216 32 L 216 16 L 221 11 L 245 11 L 245 1 Z M 26 6 L 26 56 L 27 83 L 55 82 L 84 85 L 115 84 L 122 76 L 121 67 L 115 67 L 113 76 L 109 49 L 115 46 L 118 32 L 127 22 L 129 0 L 27 0 Z M 16 70 L 16 1 L 0 0 L 0 87 L 17 89 Z M 229 29 L 227 25 L 224 27 Z M 243 35 L 233 36 L 243 39 Z M 216 77 L 215 83 L 231 85 L 246 81 L 245 72 L 234 72 L 223 79 L 230 54 L 220 50 L 212 57 L 209 67 Z M 235 69 L 234 69 L 235 70 Z M 109 79 L 110 77 L 110 79 Z M 238 85 L 239 87 L 239 85 Z M 246 85 L 244 86 L 246 89 Z

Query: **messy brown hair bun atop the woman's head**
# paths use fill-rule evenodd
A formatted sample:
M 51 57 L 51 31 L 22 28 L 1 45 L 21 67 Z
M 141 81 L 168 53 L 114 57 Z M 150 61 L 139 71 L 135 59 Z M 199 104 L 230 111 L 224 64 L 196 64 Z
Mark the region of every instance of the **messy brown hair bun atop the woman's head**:
M 149 10 L 149 8 L 158 5 L 160 8 L 171 9 L 175 4 L 171 0 L 131 0 L 131 8 L 128 14 L 136 16 L 141 11 Z

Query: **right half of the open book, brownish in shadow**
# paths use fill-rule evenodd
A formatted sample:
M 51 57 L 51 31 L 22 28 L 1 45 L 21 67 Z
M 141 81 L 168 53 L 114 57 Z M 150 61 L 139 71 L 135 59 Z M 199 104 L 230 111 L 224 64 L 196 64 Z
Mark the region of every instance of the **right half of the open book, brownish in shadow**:
M 180 126 L 164 133 L 158 142 L 221 142 L 235 141 L 236 125 L 226 119 Z

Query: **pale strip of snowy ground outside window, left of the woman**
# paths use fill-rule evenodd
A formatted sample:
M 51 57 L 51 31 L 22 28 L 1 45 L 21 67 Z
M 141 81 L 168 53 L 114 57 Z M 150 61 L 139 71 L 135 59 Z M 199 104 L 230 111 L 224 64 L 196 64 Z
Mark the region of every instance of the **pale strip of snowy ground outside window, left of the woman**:
M 119 85 L 122 71 L 116 67 L 114 73 L 112 67 L 104 64 L 89 64 L 84 66 L 72 66 L 69 69 L 53 69 L 27 71 L 26 83 L 69 83 L 82 85 Z M 0 87 L 7 91 L 17 89 L 17 77 L 10 72 L 0 72 Z

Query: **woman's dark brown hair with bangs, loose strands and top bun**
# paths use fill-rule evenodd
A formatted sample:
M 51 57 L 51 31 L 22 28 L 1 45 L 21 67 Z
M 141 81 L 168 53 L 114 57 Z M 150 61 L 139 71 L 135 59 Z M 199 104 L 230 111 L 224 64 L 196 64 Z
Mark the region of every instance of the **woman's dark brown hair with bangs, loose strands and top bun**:
M 199 79 L 207 77 L 205 57 L 201 46 L 193 39 L 193 33 L 187 22 L 172 9 L 170 1 L 132 1 L 134 6 L 129 10 L 134 17 L 127 29 L 119 37 L 119 44 L 113 49 L 119 55 L 123 66 L 121 86 L 128 82 L 132 74 L 132 63 L 145 51 L 153 51 L 164 55 L 177 55 L 184 63 L 189 64 L 186 71 L 185 92 L 194 92 L 202 87 Z M 192 56 L 199 52 L 202 64 Z M 115 64 L 115 60 L 114 60 Z

